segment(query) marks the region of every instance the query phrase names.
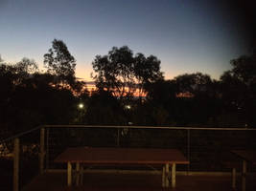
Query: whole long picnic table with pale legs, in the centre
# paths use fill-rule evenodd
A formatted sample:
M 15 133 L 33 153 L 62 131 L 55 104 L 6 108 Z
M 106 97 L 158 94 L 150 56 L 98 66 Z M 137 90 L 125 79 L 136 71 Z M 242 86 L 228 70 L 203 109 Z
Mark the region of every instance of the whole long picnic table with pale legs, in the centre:
M 76 164 L 77 184 L 82 183 L 83 165 L 160 165 L 162 166 L 162 187 L 169 187 L 172 179 L 173 188 L 176 181 L 176 164 L 189 164 L 177 149 L 151 148 L 67 148 L 55 161 L 67 163 L 68 186 L 72 185 L 73 163 Z

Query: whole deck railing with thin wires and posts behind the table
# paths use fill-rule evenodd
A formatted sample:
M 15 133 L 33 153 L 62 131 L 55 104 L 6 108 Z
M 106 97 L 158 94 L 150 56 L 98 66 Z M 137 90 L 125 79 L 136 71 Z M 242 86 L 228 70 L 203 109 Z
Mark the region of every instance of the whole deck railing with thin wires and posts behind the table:
M 230 151 L 256 150 L 255 138 L 254 128 L 42 125 L 3 139 L 0 144 L 2 151 L 8 148 L 12 154 L 11 187 L 17 191 L 28 182 L 24 181 L 21 172 L 26 169 L 24 163 L 29 157 L 25 154 L 28 152 L 34 162 L 27 163 L 35 167 L 37 162 L 37 170 L 34 170 L 37 174 L 63 169 L 64 166 L 56 164 L 54 159 L 67 147 L 76 146 L 176 148 L 190 160 L 189 165 L 177 170 L 229 172 L 226 163 L 236 161 Z

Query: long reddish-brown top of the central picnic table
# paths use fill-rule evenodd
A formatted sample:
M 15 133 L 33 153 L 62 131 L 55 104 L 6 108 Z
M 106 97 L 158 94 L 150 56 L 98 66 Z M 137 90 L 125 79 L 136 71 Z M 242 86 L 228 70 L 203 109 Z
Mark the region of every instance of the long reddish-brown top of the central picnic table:
M 90 164 L 188 164 L 189 161 L 176 149 L 138 148 L 68 148 L 56 162 L 82 162 Z

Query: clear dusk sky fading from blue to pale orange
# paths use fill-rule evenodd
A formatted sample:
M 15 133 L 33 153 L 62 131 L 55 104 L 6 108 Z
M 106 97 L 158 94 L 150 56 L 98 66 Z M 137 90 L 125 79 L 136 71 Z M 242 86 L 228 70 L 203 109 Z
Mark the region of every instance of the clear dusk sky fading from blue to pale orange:
M 246 53 L 236 15 L 218 0 L 0 0 L 0 54 L 8 63 L 43 54 L 57 38 L 91 81 L 92 61 L 112 47 L 161 60 L 166 79 L 201 72 L 219 79 Z

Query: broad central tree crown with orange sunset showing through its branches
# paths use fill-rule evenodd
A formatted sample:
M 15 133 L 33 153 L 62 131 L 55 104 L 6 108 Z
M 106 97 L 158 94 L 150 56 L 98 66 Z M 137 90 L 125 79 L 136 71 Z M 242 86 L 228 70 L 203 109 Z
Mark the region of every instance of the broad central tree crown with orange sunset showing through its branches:
M 160 61 L 153 55 L 135 57 L 127 46 L 113 47 L 107 55 L 97 55 L 92 63 L 94 79 L 99 89 L 105 89 L 115 96 L 131 96 L 146 83 L 163 78 Z

